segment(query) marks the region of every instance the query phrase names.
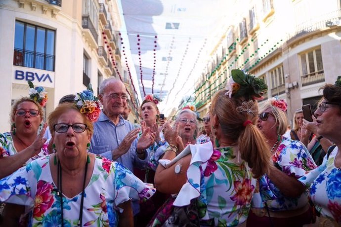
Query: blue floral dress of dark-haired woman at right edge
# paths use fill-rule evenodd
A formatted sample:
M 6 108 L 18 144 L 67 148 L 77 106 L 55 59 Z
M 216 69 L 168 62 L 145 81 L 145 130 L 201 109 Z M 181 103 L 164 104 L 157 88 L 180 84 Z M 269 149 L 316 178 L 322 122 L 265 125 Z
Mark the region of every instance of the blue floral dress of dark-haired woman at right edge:
M 339 151 L 340 152 L 340 151 Z M 298 179 L 310 187 L 311 200 L 324 217 L 334 219 L 341 225 L 341 169 L 334 164 L 338 147 L 323 159 L 323 163 Z

